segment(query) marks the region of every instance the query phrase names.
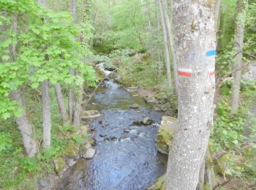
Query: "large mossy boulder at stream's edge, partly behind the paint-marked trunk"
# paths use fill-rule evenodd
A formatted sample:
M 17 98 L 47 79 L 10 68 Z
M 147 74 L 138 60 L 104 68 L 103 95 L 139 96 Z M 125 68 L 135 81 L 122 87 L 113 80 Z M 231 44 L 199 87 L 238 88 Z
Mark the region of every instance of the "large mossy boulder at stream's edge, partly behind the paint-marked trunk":
M 157 150 L 168 155 L 170 143 L 173 140 L 177 125 L 177 118 L 163 116 L 157 133 Z

